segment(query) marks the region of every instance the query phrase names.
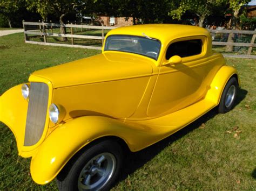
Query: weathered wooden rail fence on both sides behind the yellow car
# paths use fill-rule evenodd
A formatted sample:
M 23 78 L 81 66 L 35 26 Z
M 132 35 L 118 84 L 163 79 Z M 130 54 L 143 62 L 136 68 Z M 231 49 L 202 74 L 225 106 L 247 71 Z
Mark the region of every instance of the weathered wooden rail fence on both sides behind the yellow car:
M 38 29 L 31 30 L 32 27 L 28 27 L 29 25 L 37 26 Z M 66 27 L 69 29 L 70 34 L 59 34 L 53 33 L 53 27 Z M 95 39 L 95 40 L 102 40 L 102 44 L 104 41 L 104 30 L 112 30 L 116 29 L 117 27 L 113 26 L 91 26 L 91 25 L 80 25 L 80 24 L 56 24 L 56 23 L 44 23 L 44 22 L 25 22 L 23 20 L 23 27 L 24 27 L 24 36 L 25 36 L 25 43 L 30 44 L 39 44 L 39 45 L 51 45 L 51 46 L 66 46 L 66 47 L 79 47 L 79 48 L 90 48 L 90 49 L 102 49 L 100 46 L 84 46 L 84 45 L 75 45 L 74 38 L 80 39 Z M 88 35 L 81 35 L 81 34 L 74 34 L 73 29 L 97 29 L 102 30 L 102 36 L 88 36 Z M 46 32 L 46 30 L 50 30 L 51 32 Z M 241 31 L 241 30 L 209 30 L 209 32 L 214 37 L 215 34 L 223 33 L 223 34 L 251 34 L 251 42 L 250 43 L 234 43 L 234 42 L 225 42 L 225 41 L 212 41 L 212 45 L 222 45 L 222 46 L 239 46 L 239 47 L 248 47 L 247 54 L 238 55 L 238 54 L 226 54 L 226 57 L 234 57 L 234 58 L 250 58 L 256 59 L 256 55 L 251 55 L 253 47 L 256 47 L 254 44 L 256 38 L 256 30 L 255 31 Z M 28 37 L 28 34 L 33 34 L 35 36 L 42 36 L 44 38 L 43 42 L 39 41 L 32 41 Z M 63 43 L 49 43 L 47 37 L 67 37 L 71 38 L 71 44 L 63 44 Z

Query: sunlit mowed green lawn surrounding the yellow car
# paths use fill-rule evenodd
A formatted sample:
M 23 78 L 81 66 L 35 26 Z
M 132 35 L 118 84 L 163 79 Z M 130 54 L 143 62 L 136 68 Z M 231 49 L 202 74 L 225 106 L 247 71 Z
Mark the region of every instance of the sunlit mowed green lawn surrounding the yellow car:
M 38 69 L 100 51 L 24 44 L 22 33 L 0 37 L 0 95 Z M 227 114 L 208 112 L 169 138 L 127 156 L 113 190 L 256 189 L 256 60 L 226 59 L 238 69 L 241 90 Z M 30 176 L 14 135 L 0 124 L 0 190 L 56 190 Z

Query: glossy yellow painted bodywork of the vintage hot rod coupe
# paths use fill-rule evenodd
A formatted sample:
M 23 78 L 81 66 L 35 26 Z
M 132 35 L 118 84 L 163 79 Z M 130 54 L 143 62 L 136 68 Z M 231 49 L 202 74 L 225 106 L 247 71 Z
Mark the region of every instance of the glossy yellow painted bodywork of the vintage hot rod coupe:
M 160 40 L 158 60 L 104 51 L 103 46 L 102 54 L 30 76 L 30 82 L 48 84 L 48 107 L 55 103 L 63 110 L 59 124 L 50 122 L 47 113 L 43 136 L 33 146 L 23 146 L 28 101 L 22 97 L 21 85 L 0 97 L 0 121 L 14 132 L 19 154 L 32 157 L 31 175 L 37 183 L 54 179 L 66 162 L 93 140 L 116 136 L 131 151 L 139 151 L 218 105 L 225 84 L 237 71 L 225 65 L 221 54 L 211 51 L 211 36 L 205 29 L 137 25 L 112 30 L 106 38 L 142 33 Z M 190 39 L 202 40 L 201 54 L 165 59 L 170 44 Z

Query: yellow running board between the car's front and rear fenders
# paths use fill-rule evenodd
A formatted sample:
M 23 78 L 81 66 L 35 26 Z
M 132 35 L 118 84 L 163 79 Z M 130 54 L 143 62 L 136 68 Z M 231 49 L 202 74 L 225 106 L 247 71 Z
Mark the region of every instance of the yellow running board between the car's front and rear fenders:
M 142 145 L 145 145 L 145 148 L 172 135 L 193 121 L 196 121 L 196 119 L 206 114 L 215 106 L 216 103 L 205 98 L 204 100 L 200 100 L 197 103 L 169 115 L 144 121 L 126 121 L 125 123 L 139 129 L 142 135 L 140 142 L 142 142 Z M 146 139 L 144 139 L 145 135 Z M 139 150 L 141 149 L 142 148 Z

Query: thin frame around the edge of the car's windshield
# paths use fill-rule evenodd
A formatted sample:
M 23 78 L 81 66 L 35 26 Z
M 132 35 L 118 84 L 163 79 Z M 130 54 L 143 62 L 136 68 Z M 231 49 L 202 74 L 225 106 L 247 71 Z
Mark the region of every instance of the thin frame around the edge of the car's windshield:
M 116 50 L 116 49 L 106 49 L 106 46 L 107 46 L 107 39 L 109 37 L 113 37 L 113 36 L 123 36 L 123 37 L 136 37 L 136 38 L 142 38 L 142 39 L 148 39 L 148 40 L 153 40 L 153 41 L 157 41 L 159 43 L 159 51 L 157 53 L 157 58 L 154 58 L 150 55 L 146 55 L 146 54 L 140 54 L 138 52 L 132 52 L 132 51 L 123 51 L 123 50 Z M 151 37 L 150 37 L 151 38 Z M 126 52 L 126 53 L 133 53 L 133 54 L 138 54 L 138 55 L 142 55 L 142 56 L 145 56 L 147 58 L 151 58 L 151 59 L 154 59 L 154 60 L 158 60 L 159 58 L 159 55 L 160 55 L 160 51 L 161 51 L 161 41 L 158 40 L 158 39 L 155 39 L 155 38 L 147 38 L 147 37 L 142 37 L 142 36 L 136 36 L 136 35 L 129 35 L 129 34 L 111 34 L 110 36 L 108 36 L 105 40 L 105 45 L 104 45 L 104 51 L 116 51 L 116 52 Z

